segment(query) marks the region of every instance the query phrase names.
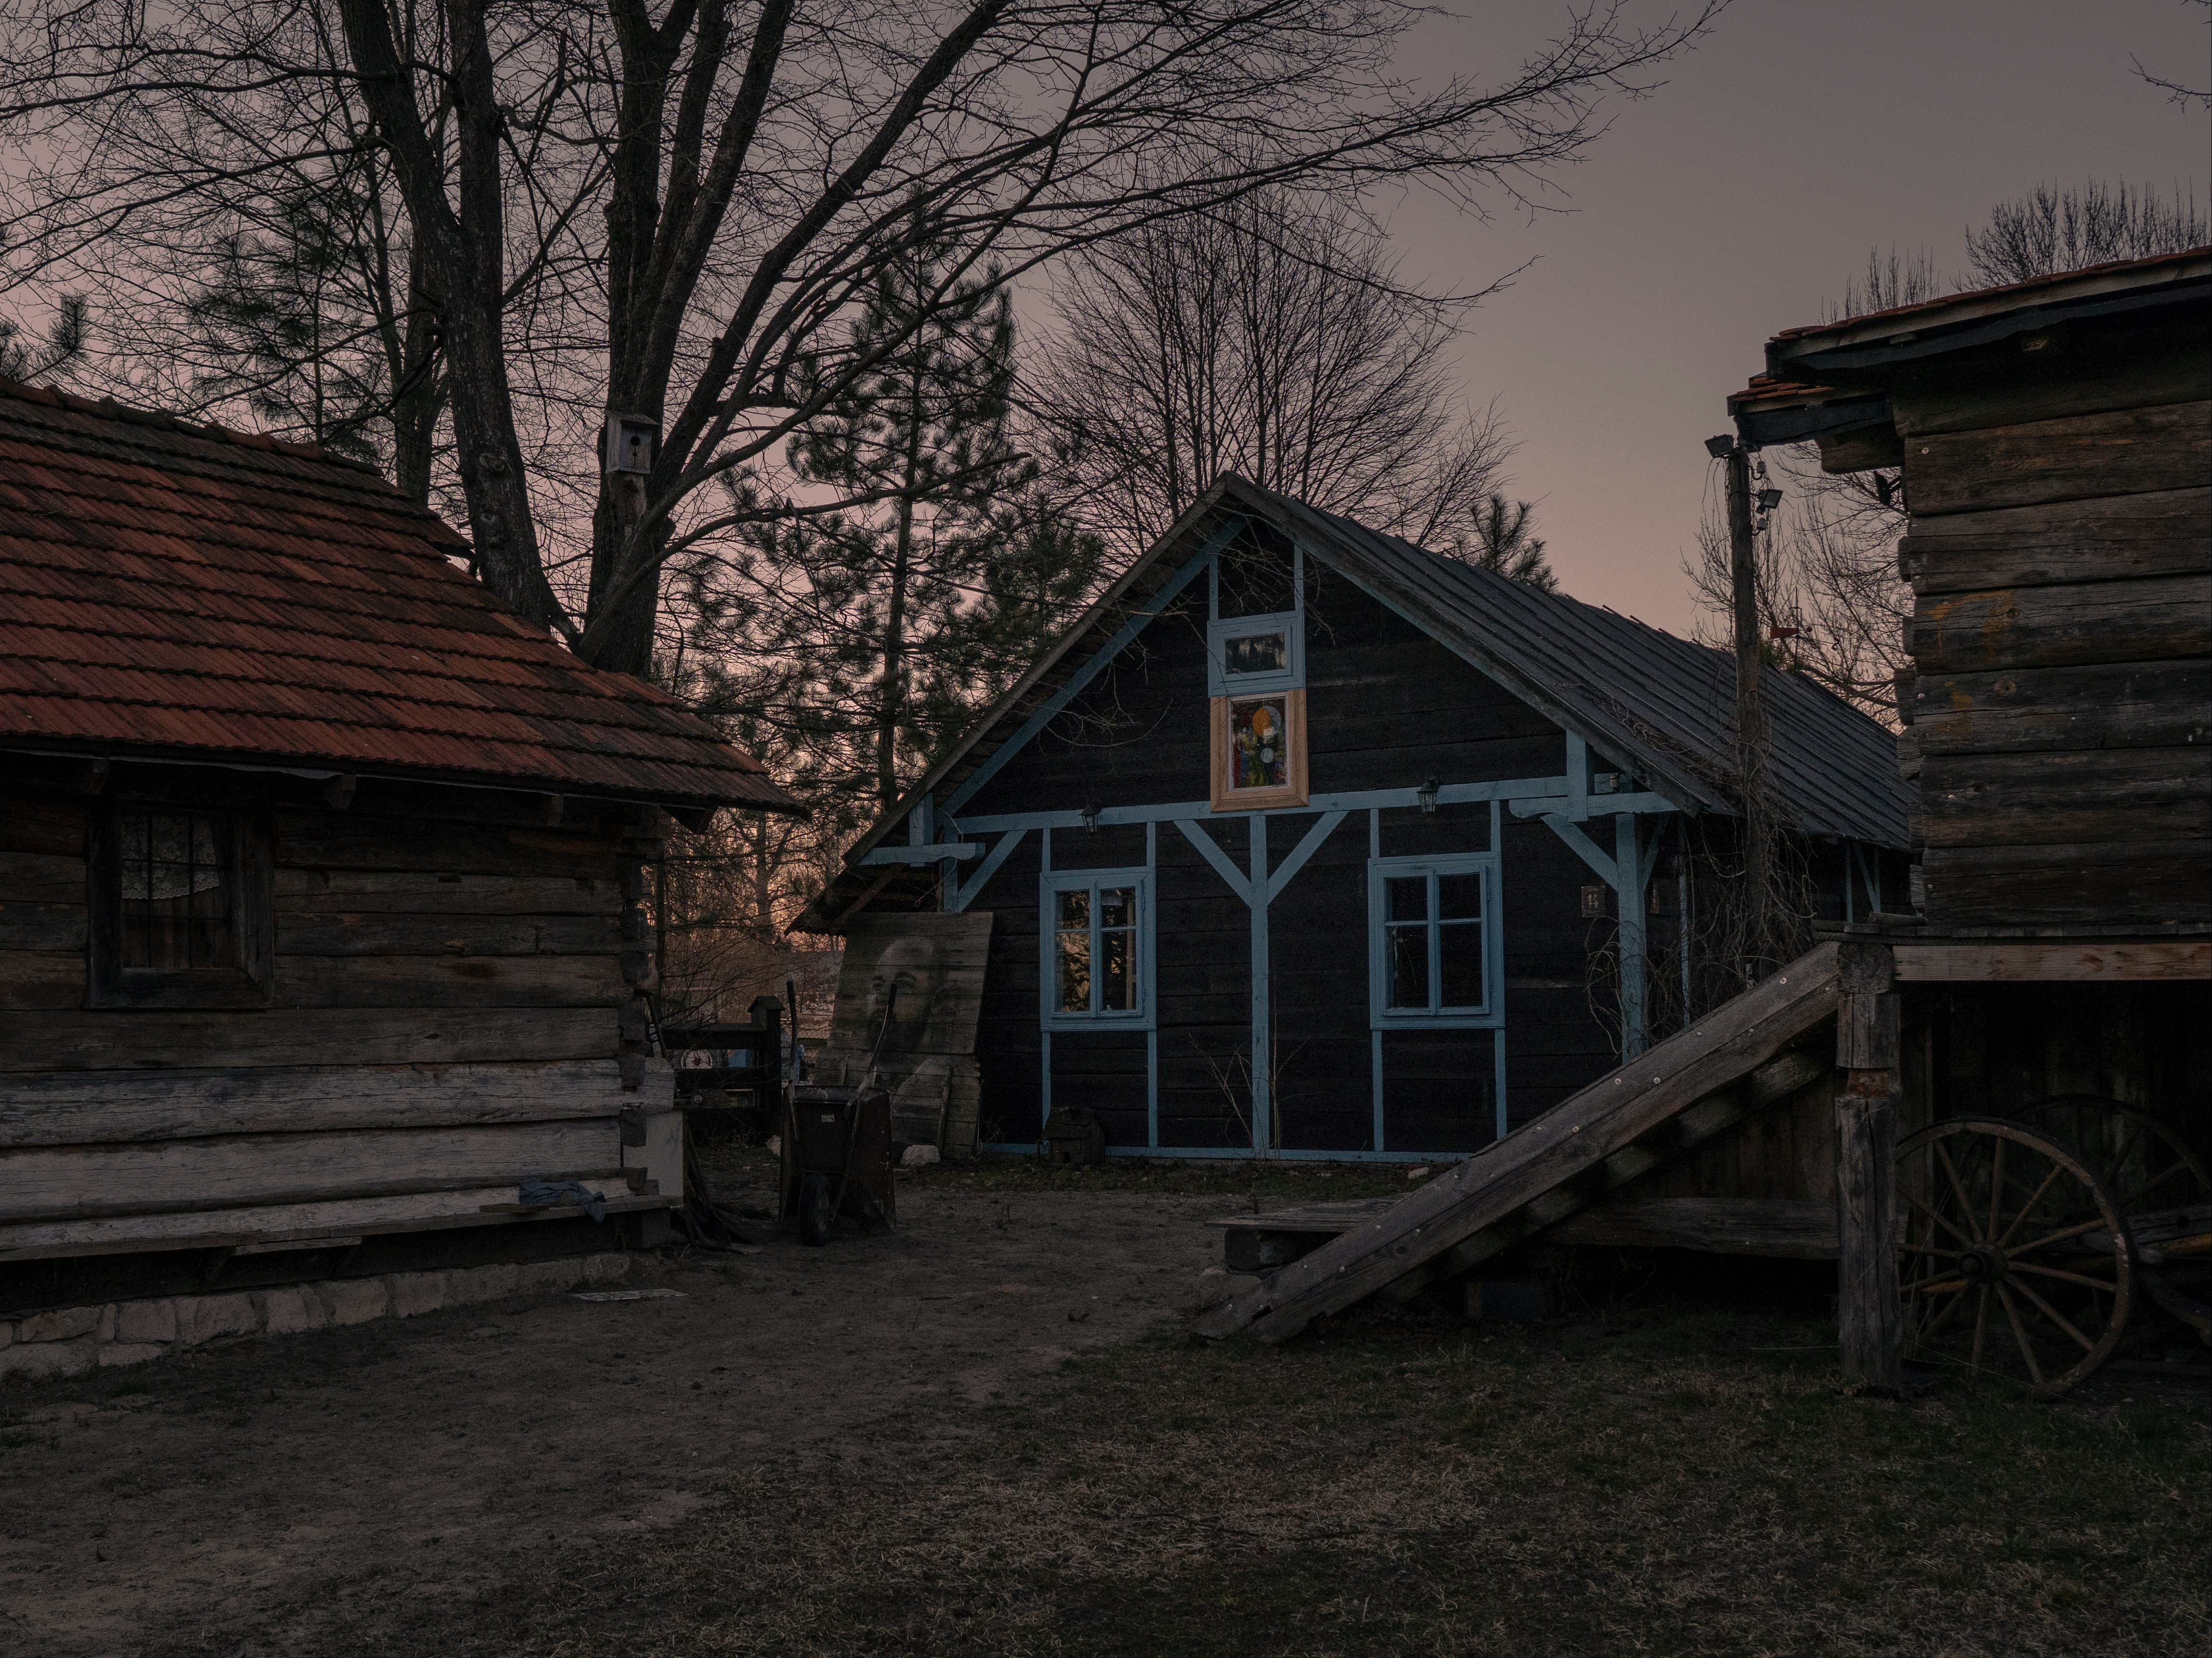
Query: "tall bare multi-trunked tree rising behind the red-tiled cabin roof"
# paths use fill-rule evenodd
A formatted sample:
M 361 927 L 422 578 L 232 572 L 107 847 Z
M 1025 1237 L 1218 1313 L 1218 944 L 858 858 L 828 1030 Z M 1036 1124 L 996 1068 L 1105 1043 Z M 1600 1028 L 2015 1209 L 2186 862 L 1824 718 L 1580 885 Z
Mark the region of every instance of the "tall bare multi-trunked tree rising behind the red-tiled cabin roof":
M 796 376 L 916 239 L 967 250 L 949 296 L 1270 183 L 1520 195 L 1717 9 L 1641 27 L 1597 0 L 1498 84 L 1420 88 L 1391 57 L 1429 13 L 1398 0 L 672 0 L 657 20 L 641 0 L 181 0 L 159 20 L 33 0 L 0 33 L 0 122 L 33 157 L 11 276 L 128 245 L 144 210 L 234 192 L 268 153 L 336 148 L 283 115 L 301 84 L 343 86 L 407 214 L 484 579 L 644 670 L 672 555 L 814 506 L 708 486 L 869 371 Z M 210 130 L 232 150 L 204 157 Z M 641 489 L 599 475 L 608 413 L 664 424 Z M 538 511 L 551 453 L 573 517 Z M 549 568 L 571 562 L 588 577 L 562 604 Z

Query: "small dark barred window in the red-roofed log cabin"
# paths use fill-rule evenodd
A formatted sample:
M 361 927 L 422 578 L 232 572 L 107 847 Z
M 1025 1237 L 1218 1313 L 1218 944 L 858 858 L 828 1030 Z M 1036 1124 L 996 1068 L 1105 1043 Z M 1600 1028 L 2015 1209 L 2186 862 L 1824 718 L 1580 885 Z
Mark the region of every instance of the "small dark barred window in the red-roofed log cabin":
M 250 809 L 119 800 L 93 844 L 97 1008 L 259 1008 L 270 999 L 268 825 Z

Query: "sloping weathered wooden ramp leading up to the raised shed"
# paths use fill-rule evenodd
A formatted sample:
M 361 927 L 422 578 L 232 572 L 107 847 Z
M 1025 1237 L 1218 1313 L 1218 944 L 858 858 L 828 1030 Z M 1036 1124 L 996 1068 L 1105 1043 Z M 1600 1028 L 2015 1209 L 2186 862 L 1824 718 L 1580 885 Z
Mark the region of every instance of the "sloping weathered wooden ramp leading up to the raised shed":
M 1206 1313 L 1201 1335 L 1281 1342 L 1367 1295 L 1409 1300 L 1575 1214 L 1834 1068 L 1792 1052 L 1836 1015 L 1838 951 L 1818 944 L 1705 1019 L 1599 1077 L 1449 1174 Z

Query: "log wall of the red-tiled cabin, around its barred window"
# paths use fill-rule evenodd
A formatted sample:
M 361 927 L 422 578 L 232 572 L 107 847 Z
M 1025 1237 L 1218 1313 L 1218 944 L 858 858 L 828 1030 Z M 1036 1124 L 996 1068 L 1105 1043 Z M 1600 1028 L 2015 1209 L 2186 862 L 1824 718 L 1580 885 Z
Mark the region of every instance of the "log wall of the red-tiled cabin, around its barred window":
M 268 1008 L 86 1008 L 97 796 L 0 816 L 0 1253 L 473 1211 L 520 1178 L 628 1196 L 622 1008 L 641 977 L 635 814 L 544 827 L 374 796 L 279 800 Z M 540 807 L 544 814 L 544 807 Z M 637 1125 L 630 1141 L 639 1141 Z M 305 1205 L 305 1209 L 303 1209 Z M 409 1209 L 409 1214 L 414 1211 Z M 38 1234 L 31 1240 L 31 1234 Z

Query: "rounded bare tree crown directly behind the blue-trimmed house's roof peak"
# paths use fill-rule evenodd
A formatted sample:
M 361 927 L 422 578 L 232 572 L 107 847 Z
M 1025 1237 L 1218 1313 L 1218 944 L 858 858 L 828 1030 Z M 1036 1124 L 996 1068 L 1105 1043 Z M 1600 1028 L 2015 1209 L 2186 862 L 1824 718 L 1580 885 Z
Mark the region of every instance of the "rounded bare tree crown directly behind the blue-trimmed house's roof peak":
M 1124 555 L 1221 473 L 1431 539 L 1509 451 L 1442 347 L 1473 298 L 1405 287 L 1354 208 L 1261 190 L 1097 243 L 1062 272 L 1031 407 Z

